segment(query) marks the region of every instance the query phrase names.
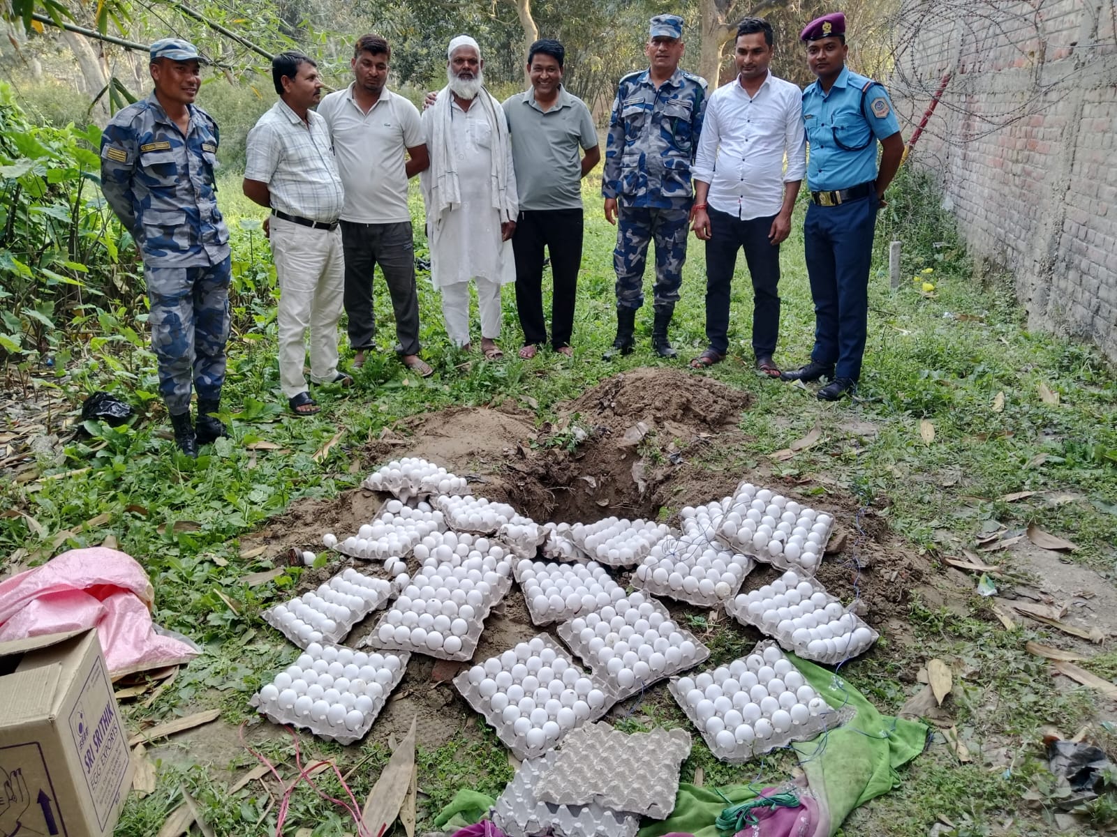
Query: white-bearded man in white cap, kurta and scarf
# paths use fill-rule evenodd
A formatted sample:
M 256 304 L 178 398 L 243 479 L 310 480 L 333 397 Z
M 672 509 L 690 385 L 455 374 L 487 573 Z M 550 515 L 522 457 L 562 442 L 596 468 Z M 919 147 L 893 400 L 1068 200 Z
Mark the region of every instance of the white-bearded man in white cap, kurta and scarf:
M 427 204 L 431 283 L 455 345 L 469 350 L 469 280 L 477 285 L 481 352 L 504 356 L 500 286 L 516 280 L 512 233 L 518 204 L 504 109 L 485 89 L 480 47 L 459 35 L 447 49 L 447 86 L 422 114 L 430 167 L 420 174 Z

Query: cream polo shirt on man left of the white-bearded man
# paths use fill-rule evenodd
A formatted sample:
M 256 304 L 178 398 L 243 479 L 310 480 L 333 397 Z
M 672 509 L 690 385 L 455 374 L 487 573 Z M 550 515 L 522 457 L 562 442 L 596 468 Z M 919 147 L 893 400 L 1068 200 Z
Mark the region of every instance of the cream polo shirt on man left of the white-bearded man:
M 364 113 L 353 96 L 354 87 L 355 81 L 318 105 L 345 185 L 342 220 L 363 224 L 410 221 L 405 150 L 422 145 L 419 108 L 384 89 Z

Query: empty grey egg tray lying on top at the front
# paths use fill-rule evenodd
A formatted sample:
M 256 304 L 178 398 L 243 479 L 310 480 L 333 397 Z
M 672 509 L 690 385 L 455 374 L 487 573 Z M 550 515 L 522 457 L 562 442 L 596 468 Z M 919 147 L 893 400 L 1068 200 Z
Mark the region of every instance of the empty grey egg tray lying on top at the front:
M 563 739 L 535 795 L 551 805 L 592 804 L 667 819 L 689 754 L 690 733 L 682 729 L 630 735 L 603 722 L 583 724 Z

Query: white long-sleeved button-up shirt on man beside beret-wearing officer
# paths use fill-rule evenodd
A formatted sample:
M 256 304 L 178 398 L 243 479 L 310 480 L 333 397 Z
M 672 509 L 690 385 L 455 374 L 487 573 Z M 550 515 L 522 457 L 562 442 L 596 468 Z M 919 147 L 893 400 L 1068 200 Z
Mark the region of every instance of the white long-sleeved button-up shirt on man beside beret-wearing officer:
M 710 94 L 690 167 L 695 180 L 709 183 L 710 206 L 743 221 L 780 212 L 783 184 L 806 173 L 802 96 L 796 85 L 771 73 L 755 96 L 739 79 Z

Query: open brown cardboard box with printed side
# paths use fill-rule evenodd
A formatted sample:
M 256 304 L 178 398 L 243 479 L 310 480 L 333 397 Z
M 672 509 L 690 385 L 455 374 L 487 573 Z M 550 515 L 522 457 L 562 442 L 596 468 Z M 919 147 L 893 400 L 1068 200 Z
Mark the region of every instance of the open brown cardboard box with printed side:
M 131 782 L 96 629 L 0 643 L 0 837 L 111 835 Z

